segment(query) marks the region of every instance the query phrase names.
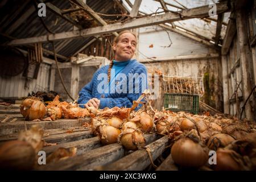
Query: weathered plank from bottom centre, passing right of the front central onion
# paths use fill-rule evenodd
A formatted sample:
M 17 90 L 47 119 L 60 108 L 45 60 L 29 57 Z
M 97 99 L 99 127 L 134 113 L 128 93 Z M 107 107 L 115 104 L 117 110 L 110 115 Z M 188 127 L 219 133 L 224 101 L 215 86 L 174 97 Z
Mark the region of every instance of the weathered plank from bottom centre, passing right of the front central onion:
M 155 142 L 152 142 L 146 146 L 151 151 L 152 160 L 154 161 L 159 155 L 163 153 L 168 144 L 168 137 L 162 137 Z M 117 160 L 114 163 L 108 164 L 108 166 L 102 166 L 96 169 L 100 170 L 143 170 L 150 165 L 150 158 L 146 150 L 137 150 L 132 154 L 125 156 L 122 159 Z

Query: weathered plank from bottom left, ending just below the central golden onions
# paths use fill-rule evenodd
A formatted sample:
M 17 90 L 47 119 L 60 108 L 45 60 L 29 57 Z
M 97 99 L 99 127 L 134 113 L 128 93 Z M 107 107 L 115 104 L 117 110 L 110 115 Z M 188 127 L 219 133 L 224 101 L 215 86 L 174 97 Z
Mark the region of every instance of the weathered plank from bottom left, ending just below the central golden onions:
M 156 139 L 156 134 L 145 135 L 147 143 L 151 143 Z M 96 166 L 101 166 L 114 162 L 125 155 L 125 148 L 121 144 L 114 143 L 86 151 L 84 154 L 77 155 L 46 166 L 39 167 L 39 170 L 88 170 Z

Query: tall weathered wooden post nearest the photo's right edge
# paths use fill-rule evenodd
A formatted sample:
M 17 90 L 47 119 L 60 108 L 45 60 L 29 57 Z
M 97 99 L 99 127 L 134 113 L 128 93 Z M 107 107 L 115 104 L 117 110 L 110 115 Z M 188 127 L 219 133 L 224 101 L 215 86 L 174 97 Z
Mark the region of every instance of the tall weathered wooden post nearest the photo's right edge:
M 252 89 L 253 80 L 251 69 L 253 68 L 253 61 L 251 59 L 251 52 L 249 49 L 249 39 L 247 36 L 247 22 L 246 22 L 246 11 L 243 9 L 237 10 L 237 38 L 240 44 L 240 55 L 241 55 L 241 68 L 242 68 L 242 90 L 243 90 L 243 102 L 249 97 Z M 245 106 L 245 115 L 249 120 L 254 120 L 254 100 L 250 97 L 249 102 Z

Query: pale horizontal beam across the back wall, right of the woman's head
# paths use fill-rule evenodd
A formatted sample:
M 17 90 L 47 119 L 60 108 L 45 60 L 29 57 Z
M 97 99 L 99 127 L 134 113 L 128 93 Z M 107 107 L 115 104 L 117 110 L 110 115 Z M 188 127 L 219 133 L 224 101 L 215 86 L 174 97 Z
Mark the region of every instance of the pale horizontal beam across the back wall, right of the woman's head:
M 154 61 L 172 61 L 172 60 L 184 60 L 184 59 L 214 59 L 220 57 L 218 53 L 209 53 L 209 54 L 201 54 L 201 55 L 182 55 L 182 56 L 168 56 L 168 57 L 156 57 Z M 140 59 L 141 63 L 154 62 L 151 59 Z

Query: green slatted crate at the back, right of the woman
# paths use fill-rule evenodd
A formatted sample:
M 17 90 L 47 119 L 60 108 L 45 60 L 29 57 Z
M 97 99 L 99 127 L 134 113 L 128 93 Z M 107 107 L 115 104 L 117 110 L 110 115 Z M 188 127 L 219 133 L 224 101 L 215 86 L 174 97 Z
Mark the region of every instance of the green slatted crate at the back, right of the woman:
M 199 96 L 195 94 L 165 93 L 164 108 L 171 111 L 199 112 Z

